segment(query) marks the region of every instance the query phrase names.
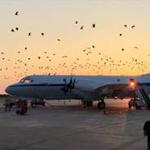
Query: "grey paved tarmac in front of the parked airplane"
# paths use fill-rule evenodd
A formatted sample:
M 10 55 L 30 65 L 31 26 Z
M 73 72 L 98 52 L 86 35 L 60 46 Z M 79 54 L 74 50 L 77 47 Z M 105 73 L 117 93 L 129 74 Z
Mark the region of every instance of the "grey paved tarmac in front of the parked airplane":
M 0 108 L 0 150 L 146 150 L 149 110 L 107 110 L 75 105 Z

